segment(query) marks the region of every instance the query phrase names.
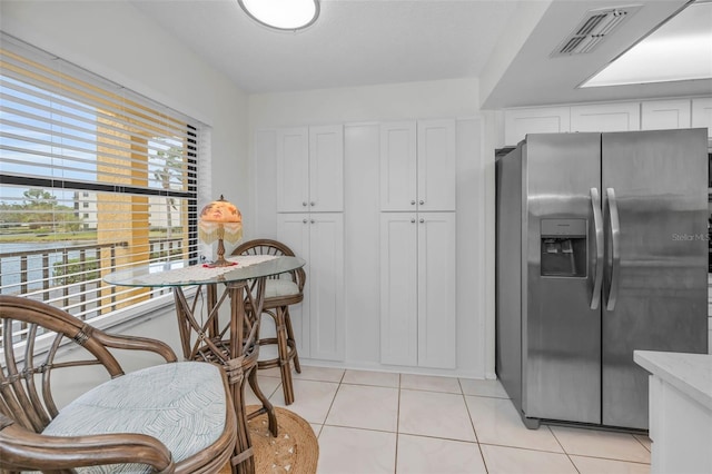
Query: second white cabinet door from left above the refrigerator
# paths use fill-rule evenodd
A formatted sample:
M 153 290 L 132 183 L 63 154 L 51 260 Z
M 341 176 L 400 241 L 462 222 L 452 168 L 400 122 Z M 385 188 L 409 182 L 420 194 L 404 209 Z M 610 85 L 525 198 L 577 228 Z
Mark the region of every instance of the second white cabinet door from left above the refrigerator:
M 632 131 L 641 129 L 639 102 L 596 103 L 571 108 L 571 131 Z

